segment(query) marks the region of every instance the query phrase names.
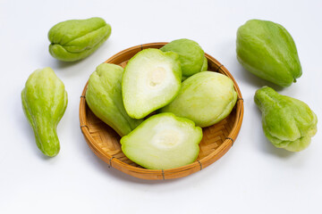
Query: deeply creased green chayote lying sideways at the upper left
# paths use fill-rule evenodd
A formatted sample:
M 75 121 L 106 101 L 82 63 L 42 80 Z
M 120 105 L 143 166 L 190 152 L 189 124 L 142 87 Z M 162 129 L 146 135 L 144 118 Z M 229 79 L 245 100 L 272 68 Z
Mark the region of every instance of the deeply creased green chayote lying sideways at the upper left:
M 101 18 L 63 21 L 48 32 L 49 53 L 60 61 L 78 61 L 94 53 L 110 35 L 111 26 Z

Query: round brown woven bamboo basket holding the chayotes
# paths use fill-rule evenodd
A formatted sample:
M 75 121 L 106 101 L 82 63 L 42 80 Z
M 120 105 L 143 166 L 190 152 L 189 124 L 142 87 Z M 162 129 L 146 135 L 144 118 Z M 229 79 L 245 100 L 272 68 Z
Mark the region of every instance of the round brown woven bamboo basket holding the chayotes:
M 125 67 L 126 63 L 135 53 L 146 48 L 160 48 L 166 43 L 151 43 L 137 45 L 120 53 L 116 53 L 106 63 L 114 63 Z M 220 72 L 233 79 L 234 88 L 238 93 L 238 100 L 231 114 L 219 123 L 203 128 L 203 138 L 199 144 L 199 156 L 197 161 L 175 169 L 152 170 L 144 169 L 138 164 L 129 160 L 122 152 L 120 145 L 120 136 L 114 130 L 108 127 L 104 122 L 89 110 L 86 103 L 86 90 L 88 83 L 84 87 L 80 96 L 80 129 L 85 136 L 89 148 L 103 161 L 113 167 L 123 171 L 133 177 L 143 179 L 172 179 L 186 177 L 201 169 L 205 169 L 211 163 L 220 159 L 225 152 L 232 146 L 242 126 L 243 100 L 242 94 L 236 81 L 225 66 L 217 62 L 215 58 L 206 53 L 208 59 L 208 70 Z

